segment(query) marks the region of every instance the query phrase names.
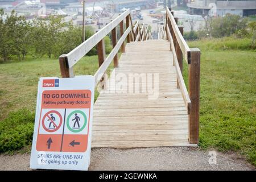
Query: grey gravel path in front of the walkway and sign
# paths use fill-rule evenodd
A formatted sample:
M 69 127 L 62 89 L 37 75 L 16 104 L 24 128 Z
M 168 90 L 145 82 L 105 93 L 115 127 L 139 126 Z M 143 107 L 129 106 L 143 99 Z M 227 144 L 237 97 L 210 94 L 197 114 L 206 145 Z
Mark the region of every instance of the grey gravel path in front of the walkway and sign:
M 209 151 L 188 147 L 93 148 L 90 170 L 255 170 L 237 155 L 217 153 L 210 165 Z M 30 154 L 0 155 L 0 170 L 30 170 Z

